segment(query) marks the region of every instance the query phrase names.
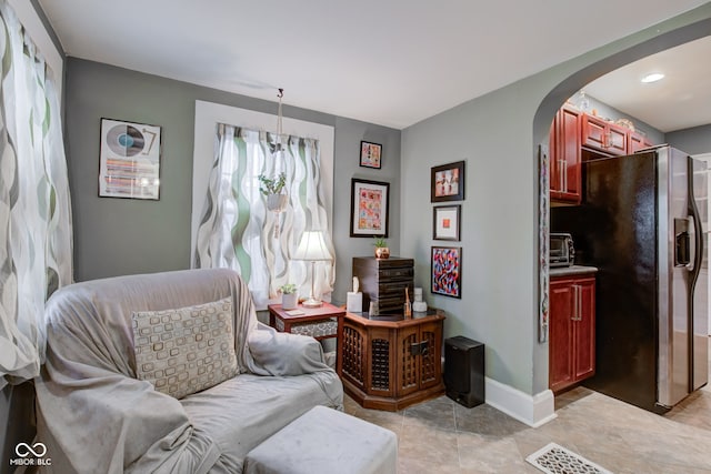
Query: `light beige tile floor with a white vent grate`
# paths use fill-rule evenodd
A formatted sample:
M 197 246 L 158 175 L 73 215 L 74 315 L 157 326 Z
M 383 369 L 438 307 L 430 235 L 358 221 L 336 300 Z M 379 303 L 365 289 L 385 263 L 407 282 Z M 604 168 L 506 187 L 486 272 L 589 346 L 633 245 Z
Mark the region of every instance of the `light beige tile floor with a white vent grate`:
M 711 473 L 711 387 L 660 416 L 584 387 L 555 399 L 532 428 L 483 404 L 442 396 L 391 413 L 346 397 L 346 412 L 398 435 L 400 474 L 539 473 L 525 457 L 558 443 L 613 473 Z

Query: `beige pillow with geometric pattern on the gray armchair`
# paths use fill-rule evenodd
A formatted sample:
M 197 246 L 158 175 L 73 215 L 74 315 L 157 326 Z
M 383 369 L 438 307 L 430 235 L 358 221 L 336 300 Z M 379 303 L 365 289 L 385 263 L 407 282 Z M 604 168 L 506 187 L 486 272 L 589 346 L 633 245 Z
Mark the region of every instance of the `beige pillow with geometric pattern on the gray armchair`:
M 133 313 L 136 374 L 182 399 L 237 375 L 232 299 Z

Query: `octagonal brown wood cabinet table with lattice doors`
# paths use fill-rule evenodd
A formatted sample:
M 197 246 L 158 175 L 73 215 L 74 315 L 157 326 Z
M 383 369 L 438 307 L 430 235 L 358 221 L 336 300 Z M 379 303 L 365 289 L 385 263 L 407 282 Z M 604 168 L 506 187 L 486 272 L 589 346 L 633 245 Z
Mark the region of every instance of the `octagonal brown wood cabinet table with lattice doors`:
M 346 313 L 343 390 L 365 409 L 395 412 L 444 394 L 444 315 L 368 316 Z

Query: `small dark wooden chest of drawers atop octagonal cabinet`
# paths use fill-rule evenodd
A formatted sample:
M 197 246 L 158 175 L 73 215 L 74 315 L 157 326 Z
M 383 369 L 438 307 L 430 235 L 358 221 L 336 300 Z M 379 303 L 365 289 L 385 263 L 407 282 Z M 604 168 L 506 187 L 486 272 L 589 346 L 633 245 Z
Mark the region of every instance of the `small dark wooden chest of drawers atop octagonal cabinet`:
M 363 311 L 368 311 L 370 302 L 378 304 L 380 314 L 402 313 L 404 290 L 410 292 L 410 301 L 414 297 L 414 260 L 391 256 L 354 256 L 353 276 L 360 280 L 363 292 Z

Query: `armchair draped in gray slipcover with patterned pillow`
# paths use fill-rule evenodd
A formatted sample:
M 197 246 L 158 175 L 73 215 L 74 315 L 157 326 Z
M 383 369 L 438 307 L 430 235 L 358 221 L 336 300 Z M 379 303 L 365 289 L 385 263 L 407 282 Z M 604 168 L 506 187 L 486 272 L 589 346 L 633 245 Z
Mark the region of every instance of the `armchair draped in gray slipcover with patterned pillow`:
M 321 345 L 259 323 L 230 270 L 72 284 L 46 317 L 36 387 L 52 472 L 240 473 L 313 406 L 342 410 Z

